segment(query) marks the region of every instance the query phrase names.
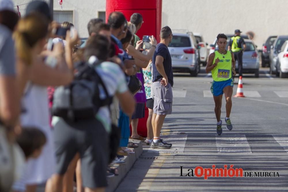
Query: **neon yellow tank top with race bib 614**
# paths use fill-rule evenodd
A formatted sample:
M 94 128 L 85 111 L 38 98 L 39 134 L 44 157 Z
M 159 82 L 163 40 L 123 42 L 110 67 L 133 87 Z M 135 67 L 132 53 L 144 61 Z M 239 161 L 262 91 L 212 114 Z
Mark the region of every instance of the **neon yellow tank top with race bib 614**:
M 232 55 L 230 51 L 227 51 L 225 55 L 220 54 L 218 51 L 215 51 L 215 57 L 213 60 L 213 64 L 215 60 L 219 58 L 220 62 L 217 66 L 212 69 L 212 78 L 214 81 L 226 81 L 232 77 Z

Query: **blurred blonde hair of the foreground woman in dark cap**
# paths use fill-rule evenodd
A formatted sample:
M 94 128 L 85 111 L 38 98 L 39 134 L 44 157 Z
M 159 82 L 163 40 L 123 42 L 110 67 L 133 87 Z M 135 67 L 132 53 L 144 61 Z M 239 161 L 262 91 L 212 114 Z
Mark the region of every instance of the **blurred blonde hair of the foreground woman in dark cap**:
M 48 20 L 41 14 L 29 14 L 18 22 L 14 32 L 16 53 L 26 64 L 31 64 L 31 49 L 37 41 L 46 37 Z

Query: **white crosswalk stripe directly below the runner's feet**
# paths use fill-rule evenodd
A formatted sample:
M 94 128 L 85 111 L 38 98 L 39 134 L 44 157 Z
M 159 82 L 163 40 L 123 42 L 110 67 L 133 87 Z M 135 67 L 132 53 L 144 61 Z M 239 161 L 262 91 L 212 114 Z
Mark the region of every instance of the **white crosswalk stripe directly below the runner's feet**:
M 218 153 L 252 153 L 245 135 L 216 136 Z

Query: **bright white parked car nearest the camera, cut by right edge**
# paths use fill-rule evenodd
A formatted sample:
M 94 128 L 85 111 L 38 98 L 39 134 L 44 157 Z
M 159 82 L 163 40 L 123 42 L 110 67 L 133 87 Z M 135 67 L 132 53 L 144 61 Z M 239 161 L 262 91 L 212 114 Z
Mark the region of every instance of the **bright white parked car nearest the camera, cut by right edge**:
M 277 56 L 276 76 L 280 78 L 288 78 L 288 41 L 285 41 Z

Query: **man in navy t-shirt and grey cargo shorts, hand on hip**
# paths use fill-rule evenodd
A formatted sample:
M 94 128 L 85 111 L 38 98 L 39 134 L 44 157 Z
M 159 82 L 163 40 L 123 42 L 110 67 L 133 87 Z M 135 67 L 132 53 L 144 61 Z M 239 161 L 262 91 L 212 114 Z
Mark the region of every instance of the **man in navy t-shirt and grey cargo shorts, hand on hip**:
M 164 119 L 166 115 L 172 113 L 173 71 L 171 56 L 167 47 L 172 41 L 172 37 L 170 27 L 165 26 L 161 29 L 161 40 L 152 58 L 152 92 L 154 97 L 152 128 L 154 138 L 151 148 L 153 149 L 169 149 L 172 146 L 171 143 L 160 139 Z

